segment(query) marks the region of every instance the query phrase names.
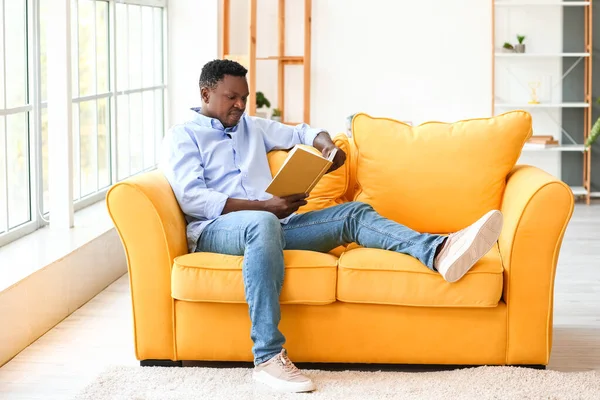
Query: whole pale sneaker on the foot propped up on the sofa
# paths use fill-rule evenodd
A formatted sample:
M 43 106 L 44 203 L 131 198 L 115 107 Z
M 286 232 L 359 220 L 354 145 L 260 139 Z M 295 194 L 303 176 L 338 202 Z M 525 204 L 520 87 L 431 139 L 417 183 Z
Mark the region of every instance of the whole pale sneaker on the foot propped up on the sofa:
M 446 281 L 458 281 L 496 244 L 502 224 L 502 213 L 492 210 L 473 225 L 451 233 L 433 266 Z

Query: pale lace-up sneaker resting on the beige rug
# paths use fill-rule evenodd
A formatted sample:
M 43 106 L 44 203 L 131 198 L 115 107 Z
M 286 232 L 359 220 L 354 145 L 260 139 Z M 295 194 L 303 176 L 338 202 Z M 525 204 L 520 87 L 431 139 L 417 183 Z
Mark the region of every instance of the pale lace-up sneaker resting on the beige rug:
M 294 363 L 290 361 L 287 352 L 281 353 L 254 367 L 252 377 L 279 392 L 311 392 L 315 384 L 304 376 Z

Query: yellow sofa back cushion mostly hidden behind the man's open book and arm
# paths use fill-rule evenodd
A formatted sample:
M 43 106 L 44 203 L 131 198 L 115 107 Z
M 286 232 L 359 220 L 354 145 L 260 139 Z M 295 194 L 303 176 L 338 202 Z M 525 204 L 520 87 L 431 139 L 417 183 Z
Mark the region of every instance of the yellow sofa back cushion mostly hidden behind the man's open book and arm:
M 341 204 L 345 201 L 344 194 L 348 189 L 351 166 L 350 145 L 348 143 L 348 138 L 343 134 L 334 137 L 333 143 L 335 143 L 336 146 L 346 153 L 346 163 L 342 167 L 329 174 L 325 174 L 321 178 L 319 183 L 317 183 L 317 185 L 311 191 L 310 196 L 307 199 L 308 204 L 301 207 L 298 210 L 298 213 L 322 210 L 327 207 Z M 314 147 L 305 146 L 305 148 L 320 154 L 320 152 Z M 275 150 L 269 152 L 269 166 L 271 167 L 271 174 L 273 176 L 277 174 L 277 171 L 279 171 L 281 165 L 283 165 L 287 155 L 288 152 L 284 150 Z

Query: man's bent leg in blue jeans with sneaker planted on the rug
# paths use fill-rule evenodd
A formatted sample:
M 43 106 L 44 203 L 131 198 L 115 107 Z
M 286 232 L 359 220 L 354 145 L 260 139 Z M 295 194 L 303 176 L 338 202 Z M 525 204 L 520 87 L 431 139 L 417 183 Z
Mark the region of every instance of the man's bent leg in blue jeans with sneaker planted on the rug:
M 283 286 L 285 239 L 279 219 L 264 211 L 223 215 L 200 235 L 197 252 L 244 256 L 242 273 L 254 342 L 254 378 L 287 392 L 315 389 L 287 357 L 279 331 L 279 295 Z

